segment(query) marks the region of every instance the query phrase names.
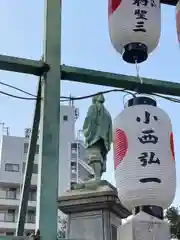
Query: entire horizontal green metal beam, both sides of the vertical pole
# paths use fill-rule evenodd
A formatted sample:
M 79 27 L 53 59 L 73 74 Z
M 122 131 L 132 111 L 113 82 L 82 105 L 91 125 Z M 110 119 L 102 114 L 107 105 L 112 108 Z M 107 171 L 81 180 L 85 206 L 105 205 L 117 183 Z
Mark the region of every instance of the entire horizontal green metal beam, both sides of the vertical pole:
M 126 88 L 132 91 L 138 89 L 144 93 L 154 92 L 165 95 L 180 96 L 179 83 L 143 78 L 144 83 L 141 84 L 140 80 L 134 76 L 101 72 L 66 65 L 62 65 L 60 68 L 63 80 Z M 49 66 L 43 61 L 0 55 L 0 70 L 40 76 L 49 70 Z

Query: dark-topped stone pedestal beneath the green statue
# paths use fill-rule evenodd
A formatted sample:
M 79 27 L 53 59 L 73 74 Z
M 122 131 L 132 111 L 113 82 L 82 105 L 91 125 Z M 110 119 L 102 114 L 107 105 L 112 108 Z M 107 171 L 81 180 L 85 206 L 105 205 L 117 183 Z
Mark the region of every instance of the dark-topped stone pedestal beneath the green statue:
M 79 240 L 117 240 L 121 219 L 130 215 L 107 181 L 66 192 L 59 210 L 68 215 L 67 238 Z

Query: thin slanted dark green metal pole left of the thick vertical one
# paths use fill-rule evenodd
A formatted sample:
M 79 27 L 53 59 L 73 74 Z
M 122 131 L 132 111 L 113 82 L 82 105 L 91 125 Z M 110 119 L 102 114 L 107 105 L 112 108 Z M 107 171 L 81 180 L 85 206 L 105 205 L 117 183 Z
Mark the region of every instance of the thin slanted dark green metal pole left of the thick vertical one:
M 31 178 L 34 165 L 34 157 L 36 154 L 36 143 L 38 138 L 39 122 L 40 122 L 40 110 L 41 110 L 41 80 L 39 80 L 36 107 L 33 119 L 32 133 L 30 138 L 30 144 L 27 154 L 27 161 L 22 185 L 22 192 L 19 205 L 19 213 L 17 218 L 16 236 L 23 236 L 24 225 L 26 219 L 26 212 L 29 200 L 29 190 L 31 186 Z

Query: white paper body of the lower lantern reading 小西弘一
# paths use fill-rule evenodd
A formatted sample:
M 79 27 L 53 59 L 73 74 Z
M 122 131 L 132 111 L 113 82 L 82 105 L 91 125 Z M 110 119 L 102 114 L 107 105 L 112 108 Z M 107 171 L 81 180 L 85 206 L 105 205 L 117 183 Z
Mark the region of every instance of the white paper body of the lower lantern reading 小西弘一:
M 171 121 L 150 105 L 127 107 L 113 125 L 116 187 L 129 210 L 154 205 L 166 209 L 176 190 Z

